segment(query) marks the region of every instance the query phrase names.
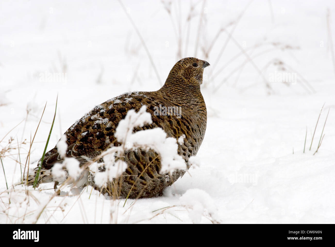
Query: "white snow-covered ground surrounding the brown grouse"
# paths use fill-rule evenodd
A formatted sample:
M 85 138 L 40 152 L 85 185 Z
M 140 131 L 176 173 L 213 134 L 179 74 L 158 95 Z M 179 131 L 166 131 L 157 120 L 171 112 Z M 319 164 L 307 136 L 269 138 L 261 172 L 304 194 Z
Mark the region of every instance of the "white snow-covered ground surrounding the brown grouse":
M 123 4 L 1 1 L 0 223 L 334 223 L 335 2 Z M 202 87 L 207 129 L 199 164 L 163 196 L 125 203 L 91 187 L 52 197 L 51 183 L 11 186 L 20 181 L 46 101 L 30 168 L 42 156 L 57 94 L 48 150 L 95 105 L 159 89 L 189 56 L 211 64 Z

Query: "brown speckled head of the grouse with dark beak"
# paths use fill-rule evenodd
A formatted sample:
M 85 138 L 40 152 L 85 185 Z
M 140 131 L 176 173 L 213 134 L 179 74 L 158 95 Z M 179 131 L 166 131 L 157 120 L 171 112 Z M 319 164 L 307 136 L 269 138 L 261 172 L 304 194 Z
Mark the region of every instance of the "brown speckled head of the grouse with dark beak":
M 195 57 L 186 57 L 179 60 L 169 73 L 166 81 L 177 79 L 179 83 L 186 83 L 188 86 L 200 86 L 204 68 L 209 63 Z

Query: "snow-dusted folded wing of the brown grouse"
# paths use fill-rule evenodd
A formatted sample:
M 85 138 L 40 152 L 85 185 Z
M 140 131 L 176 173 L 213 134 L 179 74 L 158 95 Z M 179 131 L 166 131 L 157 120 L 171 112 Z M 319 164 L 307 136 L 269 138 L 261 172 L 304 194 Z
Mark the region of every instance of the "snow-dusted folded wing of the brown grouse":
M 76 158 L 80 164 L 92 160 L 110 145 L 118 145 L 114 137 L 118 123 L 125 118 L 130 109 L 137 112 L 142 105 L 151 105 L 152 100 L 144 92 L 126 93 L 97 105 L 81 119 L 77 120 L 64 134 L 68 149 L 67 157 Z M 154 128 L 143 126 L 140 129 Z M 50 169 L 55 163 L 62 163 L 63 158 L 57 147 L 50 150 L 44 159 L 42 168 Z

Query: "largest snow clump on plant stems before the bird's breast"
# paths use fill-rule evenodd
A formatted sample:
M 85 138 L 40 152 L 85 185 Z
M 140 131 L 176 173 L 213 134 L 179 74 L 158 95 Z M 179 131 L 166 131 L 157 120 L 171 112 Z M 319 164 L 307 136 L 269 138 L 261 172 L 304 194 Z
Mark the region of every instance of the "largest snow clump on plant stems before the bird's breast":
M 120 176 L 126 170 L 128 165 L 122 160 L 122 156 L 128 150 L 141 148 L 152 149 L 157 152 L 161 161 L 161 174 L 171 173 L 176 169 L 186 170 L 185 160 L 178 154 L 178 142 L 183 142 L 185 135 L 182 135 L 177 142 L 176 138 L 167 137 L 165 131 L 158 127 L 133 133 L 134 128 L 151 123 L 151 114 L 146 112 L 145 105 L 137 113 L 135 110 L 128 111 L 125 119 L 120 121 L 115 132 L 115 137 L 121 143 L 121 146 L 113 146 L 102 153 L 106 169 L 95 174 L 94 182 L 98 187 Z M 96 166 L 91 167 L 95 167 L 95 169 L 91 169 L 92 171 L 97 171 Z

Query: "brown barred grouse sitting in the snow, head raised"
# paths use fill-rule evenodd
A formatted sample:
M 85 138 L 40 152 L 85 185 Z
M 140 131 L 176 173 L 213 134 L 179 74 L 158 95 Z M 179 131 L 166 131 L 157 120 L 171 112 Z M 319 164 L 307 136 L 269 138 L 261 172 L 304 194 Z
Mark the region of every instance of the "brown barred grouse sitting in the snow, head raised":
M 152 123 L 136 127 L 134 132 L 160 127 L 168 137 L 184 137 L 184 142 L 178 143 L 178 154 L 183 157 L 188 169 L 191 166 L 190 157 L 197 154 L 205 136 L 207 110 L 200 87 L 204 69 L 209 65 L 207 61 L 195 57 L 183 58 L 173 66 L 164 85 L 157 91 L 128 92 L 95 106 L 64 133 L 68 146 L 66 157 L 74 157 L 83 166 L 97 159 L 111 145 L 120 145 L 115 137 L 118 123 L 129 110 L 138 112 L 146 105 Z M 180 117 L 154 114 L 158 106 L 181 107 L 182 114 Z M 117 198 L 150 198 L 162 195 L 166 187 L 186 172 L 176 169 L 172 174 L 160 174 L 160 157 L 152 149 L 126 150 L 122 159 L 128 167 L 121 176 L 108 181 L 104 188 L 97 186 L 94 178 L 87 179 L 87 174 L 86 177 L 81 176 L 83 181 L 80 186 L 89 184 L 102 194 Z M 35 173 L 27 177 L 27 185 L 33 185 L 39 166 L 41 170 L 37 186 L 54 181 L 51 169 L 55 164 L 62 163 L 64 157 L 60 156 L 56 145 L 46 152 L 43 163 L 41 161 Z M 97 162 L 103 163 L 103 159 Z M 100 167 L 101 171 L 105 169 L 104 166 Z M 167 175 L 169 179 L 166 179 Z M 55 188 L 57 185 L 55 181 Z

